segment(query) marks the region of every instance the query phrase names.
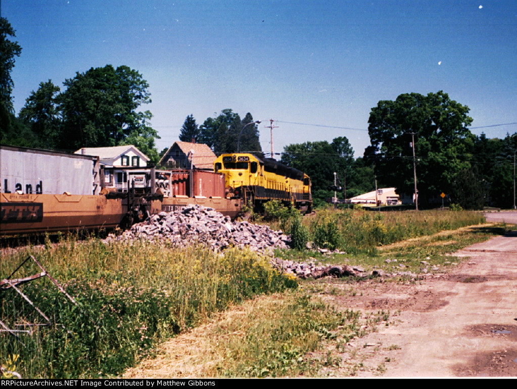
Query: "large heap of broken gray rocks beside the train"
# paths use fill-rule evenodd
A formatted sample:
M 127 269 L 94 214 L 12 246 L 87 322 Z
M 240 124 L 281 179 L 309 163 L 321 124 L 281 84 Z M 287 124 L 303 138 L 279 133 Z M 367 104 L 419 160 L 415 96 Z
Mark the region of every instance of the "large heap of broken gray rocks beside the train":
M 160 212 L 119 236 L 110 235 L 106 241 L 134 239 L 168 240 L 176 245 L 201 243 L 215 251 L 230 246 L 249 247 L 264 252 L 268 248 L 288 248 L 291 238 L 282 231 L 246 221 L 232 222 L 213 208 L 188 205 L 173 212 Z

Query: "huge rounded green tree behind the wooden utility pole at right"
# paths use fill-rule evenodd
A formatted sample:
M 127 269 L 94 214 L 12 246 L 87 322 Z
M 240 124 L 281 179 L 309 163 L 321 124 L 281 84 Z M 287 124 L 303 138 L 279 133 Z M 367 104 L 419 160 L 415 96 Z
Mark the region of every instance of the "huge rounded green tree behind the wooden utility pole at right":
M 379 101 L 370 113 L 371 146 L 364 152 L 375 163 L 379 183 L 395 186 L 399 194 L 414 192 L 414 135 L 419 203 L 451 194 L 455 177 L 470 169 L 475 136 L 467 129 L 468 112 L 441 90 Z

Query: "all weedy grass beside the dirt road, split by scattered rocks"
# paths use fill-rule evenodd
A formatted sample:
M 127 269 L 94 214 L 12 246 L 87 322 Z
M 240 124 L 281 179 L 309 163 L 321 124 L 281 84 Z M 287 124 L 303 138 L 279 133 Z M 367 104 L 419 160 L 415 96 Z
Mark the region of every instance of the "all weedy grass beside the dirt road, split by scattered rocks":
M 320 211 L 301 219 L 277 208 L 287 216 L 270 215 L 267 223 L 302 240 L 299 250 L 277 255 L 353 261 L 365 268 L 389 270 L 391 259 L 397 259 L 397 266 L 419 271 L 425 258 L 445 267 L 446 253 L 505 230 L 482 227 L 483 216 L 476 212 Z M 472 225 L 481 228 L 437 234 Z M 392 244 L 431 235 L 425 243 Z M 347 254 L 324 257 L 304 248 L 308 242 Z M 190 367 L 181 362 L 179 376 L 189 371 L 191 377 L 318 376 L 322 366 L 336 363 L 331 353 L 321 354 L 323 340 L 340 337 L 345 344 L 367 331 L 364 320 L 388 319 L 383 312 L 328 306 L 315 295 L 321 287 L 311 289 L 316 284 L 303 282 L 299 288 L 293 276 L 271 268 L 268 258 L 235 248 L 216 254 L 199 246 L 141 241 L 108 245 L 98 239 L 63 238 L 43 250 L 28 247 L 3 255 L 0 277 L 9 276 L 28 255 L 64 284 L 78 305 L 45 278 L 22 287 L 53 323 L 38 326 L 32 335 L 21 334 L 20 340 L 0 333 L 0 364 L 24 378 L 119 376 L 155 355 L 165 339 L 188 343 L 191 331 L 196 342 L 203 342 L 192 347 L 211 351 L 201 353 L 197 362 L 191 358 Z M 16 276 L 39 271 L 31 264 Z M 0 308 L 0 320 L 9 328 L 43 322 L 13 290 L 0 292 Z

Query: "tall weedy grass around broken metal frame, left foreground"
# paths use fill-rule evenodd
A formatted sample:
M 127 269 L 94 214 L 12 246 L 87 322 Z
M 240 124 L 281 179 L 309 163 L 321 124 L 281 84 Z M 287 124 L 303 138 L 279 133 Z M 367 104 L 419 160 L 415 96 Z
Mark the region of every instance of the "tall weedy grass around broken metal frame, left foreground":
M 21 286 L 52 321 L 32 335 L 20 334 L 20 340 L 0 333 L 0 363 L 18 355 L 24 378 L 115 376 L 151 352 L 157 341 L 230 303 L 297 286 L 249 251 L 215 254 L 203 247 L 177 249 L 157 242 L 107 245 L 73 239 L 3 257 L 0 278 L 29 254 L 63 283 L 78 305 L 46 278 Z M 27 262 L 15 276 L 38 272 Z M 0 292 L 0 308 L 0 320 L 10 328 L 44 323 L 16 291 Z

